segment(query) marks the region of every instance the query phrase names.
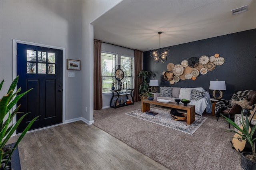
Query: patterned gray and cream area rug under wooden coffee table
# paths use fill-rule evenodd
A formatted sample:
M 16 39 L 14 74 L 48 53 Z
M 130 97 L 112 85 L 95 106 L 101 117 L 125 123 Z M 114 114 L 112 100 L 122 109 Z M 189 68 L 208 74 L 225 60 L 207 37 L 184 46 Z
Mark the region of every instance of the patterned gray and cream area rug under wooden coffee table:
M 158 113 L 157 115 L 148 115 L 146 112 L 141 112 L 141 109 L 138 109 L 136 111 L 132 111 L 129 113 L 126 113 L 126 115 L 130 115 L 139 119 L 142 119 L 144 121 L 149 121 L 152 123 L 156 123 L 158 125 L 162 125 L 168 128 L 173 128 L 175 130 L 179 130 L 181 132 L 185 132 L 188 134 L 193 134 L 196 129 L 198 129 L 204 121 L 206 121 L 207 117 L 201 117 L 201 116 L 195 116 L 195 121 L 188 125 L 186 121 L 175 121 L 170 116 L 170 109 L 162 109 L 162 108 L 156 108 L 156 107 L 150 107 L 150 111 L 153 111 L 155 113 Z

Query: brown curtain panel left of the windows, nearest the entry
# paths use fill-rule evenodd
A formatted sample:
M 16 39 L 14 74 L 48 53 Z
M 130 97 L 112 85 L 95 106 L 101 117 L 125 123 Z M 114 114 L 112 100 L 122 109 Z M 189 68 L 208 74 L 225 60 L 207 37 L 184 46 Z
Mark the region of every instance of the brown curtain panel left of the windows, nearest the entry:
M 102 82 L 101 82 L 101 41 L 94 39 L 94 98 L 93 98 L 93 109 L 102 109 Z

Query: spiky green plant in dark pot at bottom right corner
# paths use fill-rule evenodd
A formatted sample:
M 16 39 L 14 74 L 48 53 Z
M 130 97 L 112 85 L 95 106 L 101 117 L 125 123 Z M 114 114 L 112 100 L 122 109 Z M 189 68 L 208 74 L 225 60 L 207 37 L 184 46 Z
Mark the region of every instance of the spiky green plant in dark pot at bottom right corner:
M 254 110 L 255 113 L 255 110 Z M 227 130 L 229 132 L 234 132 L 235 136 L 232 138 L 237 138 L 238 140 L 245 140 L 247 141 L 251 148 L 252 148 L 252 153 L 250 152 L 242 152 L 241 153 L 241 166 L 245 170 L 251 170 L 250 167 L 256 167 L 256 152 L 255 152 L 255 140 L 256 138 L 254 137 L 254 132 L 256 130 L 256 126 L 254 125 L 252 128 L 250 127 L 250 121 L 248 117 L 246 116 L 245 121 L 244 121 L 244 115 L 241 113 L 242 121 L 241 127 L 238 127 L 236 123 L 234 123 L 232 120 L 230 120 L 228 117 L 225 117 L 222 115 L 228 123 L 233 125 L 236 129 L 238 129 L 238 132 L 234 130 Z M 240 131 L 240 132 L 239 132 Z

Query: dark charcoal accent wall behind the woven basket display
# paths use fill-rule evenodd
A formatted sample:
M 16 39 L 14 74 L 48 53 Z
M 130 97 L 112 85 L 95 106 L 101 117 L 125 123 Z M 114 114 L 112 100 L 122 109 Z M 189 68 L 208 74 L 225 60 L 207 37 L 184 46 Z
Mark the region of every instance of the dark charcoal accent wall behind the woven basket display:
M 212 95 L 212 90 L 209 90 L 210 81 L 218 79 L 226 81 L 223 99 L 230 99 L 236 90 L 256 90 L 256 29 L 162 49 L 170 50 L 170 56 L 165 63 L 159 61 L 155 64 L 153 58 L 150 57 L 150 51 L 143 53 L 143 69 L 154 73 L 155 79 L 158 79 L 160 83 L 159 86 L 203 87 Z M 160 81 L 160 75 L 167 70 L 168 63 L 180 64 L 190 57 L 199 58 L 202 55 L 210 57 L 215 53 L 224 57 L 225 62 L 223 65 L 216 65 L 216 68 L 208 71 L 206 75 L 200 74 L 196 80 L 180 80 L 173 85 L 169 81 Z

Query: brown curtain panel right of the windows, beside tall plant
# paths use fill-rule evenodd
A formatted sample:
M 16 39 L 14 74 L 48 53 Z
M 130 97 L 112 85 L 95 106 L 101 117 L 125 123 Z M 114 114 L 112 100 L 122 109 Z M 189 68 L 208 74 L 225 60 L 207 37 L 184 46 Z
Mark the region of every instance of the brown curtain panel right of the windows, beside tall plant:
M 139 94 L 140 82 L 142 78 L 138 77 L 138 74 L 142 70 L 142 51 L 134 49 L 134 101 L 141 101 Z

